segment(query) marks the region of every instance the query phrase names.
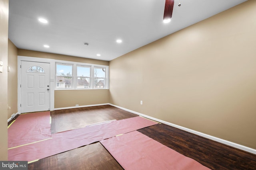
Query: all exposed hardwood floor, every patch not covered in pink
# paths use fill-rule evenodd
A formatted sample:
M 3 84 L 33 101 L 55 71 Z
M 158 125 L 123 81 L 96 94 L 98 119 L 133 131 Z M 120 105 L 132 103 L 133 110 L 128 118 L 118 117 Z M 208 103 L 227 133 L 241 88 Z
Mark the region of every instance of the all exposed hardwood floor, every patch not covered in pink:
M 56 133 L 92 123 L 126 119 L 137 115 L 107 105 L 52 111 L 51 116 L 52 133 Z M 256 155 L 168 125 L 157 124 L 138 131 L 212 170 L 256 170 Z M 28 169 L 120 170 L 123 168 L 99 142 L 96 142 L 30 163 Z

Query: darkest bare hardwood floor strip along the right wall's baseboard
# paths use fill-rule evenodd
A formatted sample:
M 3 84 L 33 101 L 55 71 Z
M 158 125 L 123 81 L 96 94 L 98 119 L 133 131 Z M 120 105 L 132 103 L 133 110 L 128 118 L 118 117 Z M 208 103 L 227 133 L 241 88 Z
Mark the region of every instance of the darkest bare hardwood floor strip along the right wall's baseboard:
M 256 170 L 256 155 L 175 127 L 157 124 L 138 131 L 212 170 Z

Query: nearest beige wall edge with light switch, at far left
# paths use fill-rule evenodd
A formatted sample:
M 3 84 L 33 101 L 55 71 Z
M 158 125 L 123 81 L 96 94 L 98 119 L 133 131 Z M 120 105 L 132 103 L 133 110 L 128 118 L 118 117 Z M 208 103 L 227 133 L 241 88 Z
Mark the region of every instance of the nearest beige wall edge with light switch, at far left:
M 9 1 L 0 0 L 0 60 L 3 72 L 0 72 L 0 160 L 8 159 L 7 152 L 7 66 L 8 66 L 8 16 Z

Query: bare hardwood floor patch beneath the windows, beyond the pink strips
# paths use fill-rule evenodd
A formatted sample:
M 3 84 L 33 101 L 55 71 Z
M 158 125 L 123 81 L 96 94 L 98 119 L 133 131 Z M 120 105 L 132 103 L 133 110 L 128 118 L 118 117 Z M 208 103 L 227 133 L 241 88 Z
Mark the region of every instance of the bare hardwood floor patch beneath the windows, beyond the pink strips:
M 82 107 L 51 111 L 52 133 L 78 129 L 93 123 L 135 117 L 133 113 L 113 106 Z

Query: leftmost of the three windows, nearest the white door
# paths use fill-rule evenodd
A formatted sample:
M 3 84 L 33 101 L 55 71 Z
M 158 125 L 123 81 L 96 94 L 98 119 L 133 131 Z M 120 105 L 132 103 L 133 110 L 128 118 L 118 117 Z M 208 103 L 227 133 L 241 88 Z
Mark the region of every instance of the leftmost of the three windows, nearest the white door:
M 73 88 L 73 66 L 56 64 L 56 88 L 72 89 Z

